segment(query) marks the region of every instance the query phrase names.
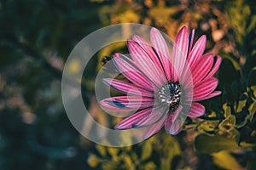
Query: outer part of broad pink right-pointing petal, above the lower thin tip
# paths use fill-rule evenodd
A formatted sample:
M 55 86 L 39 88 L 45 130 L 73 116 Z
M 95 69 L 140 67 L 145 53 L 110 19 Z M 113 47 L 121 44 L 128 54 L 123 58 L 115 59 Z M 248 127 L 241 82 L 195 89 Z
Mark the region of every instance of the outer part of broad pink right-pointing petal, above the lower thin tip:
M 194 96 L 193 99 L 195 101 L 200 101 L 206 99 L 209 94 L 215 90 L 218 85 L 218 79 L 214 77 L 210 77 L 201 81 L 200 84 L 197 84 L 194 88 Z

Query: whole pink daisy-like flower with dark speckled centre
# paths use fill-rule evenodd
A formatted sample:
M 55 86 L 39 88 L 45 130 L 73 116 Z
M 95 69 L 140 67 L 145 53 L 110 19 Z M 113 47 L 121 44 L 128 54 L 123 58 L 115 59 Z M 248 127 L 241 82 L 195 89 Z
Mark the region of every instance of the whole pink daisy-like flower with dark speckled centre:
M 151 45 L 135 35 L 127 42 L 131 57 L 113 54 L 114 65 L 129 82 L 113 78 L 105 78 L 103 82 L 128 95 L 102 99 L 100 104 L 109 111 L 134 111 L 115 129 L 148 126 L 144 139 L 161 127 L 175 135 L 182 130 L 187 116 L 204 114 L 205 107 L 198 101 L 221 94 L 214 91 L 218 79 L 212 77 L 221 57 L 203 54 L 207 42 L 204 35 L 192 48 L 194 35 L 194 30 L 189 36 L 188 29 L 183 27 L 169 52 L 160 31 L 152 28 Z

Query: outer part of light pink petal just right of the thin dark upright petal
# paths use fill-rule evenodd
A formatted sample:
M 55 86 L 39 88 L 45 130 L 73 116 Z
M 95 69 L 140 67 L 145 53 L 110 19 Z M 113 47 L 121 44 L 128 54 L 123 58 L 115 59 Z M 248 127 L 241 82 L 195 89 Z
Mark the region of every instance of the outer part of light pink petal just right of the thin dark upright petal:
M 193 68 L 193 65 L 197 63 L 197 61 L 201 58 L 207 43 L 207 37 L 201 36 L 197 42 L 195 42 L 195 46 L 192 48 L 191 52 L 188 56 L 188 63 L 190 65 L 190 68 Z

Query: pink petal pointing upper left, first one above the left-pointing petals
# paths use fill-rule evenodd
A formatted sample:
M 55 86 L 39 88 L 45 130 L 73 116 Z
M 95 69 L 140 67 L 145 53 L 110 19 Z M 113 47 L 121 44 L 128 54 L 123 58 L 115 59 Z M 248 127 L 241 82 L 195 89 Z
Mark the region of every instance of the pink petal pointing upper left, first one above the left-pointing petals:
M 141 86 L 143 88 L 148 88 L 154 90 L 154 85 L 148 80 L 148 78 L 143 75 L 136 64 L 123 54 L 113 54 L 113 63 L 116 65 L 117 69 L 121 74 L 123 74 L 128 80 Z

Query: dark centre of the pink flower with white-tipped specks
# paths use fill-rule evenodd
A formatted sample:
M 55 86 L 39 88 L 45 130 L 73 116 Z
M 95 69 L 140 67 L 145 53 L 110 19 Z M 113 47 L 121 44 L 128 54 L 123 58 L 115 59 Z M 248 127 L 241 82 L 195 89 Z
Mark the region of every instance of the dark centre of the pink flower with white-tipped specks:
M 177 108 L 180 102 L 181 86 L 179 82 L 168 82 L 158 92 L 158 99 L 163 104 Z

